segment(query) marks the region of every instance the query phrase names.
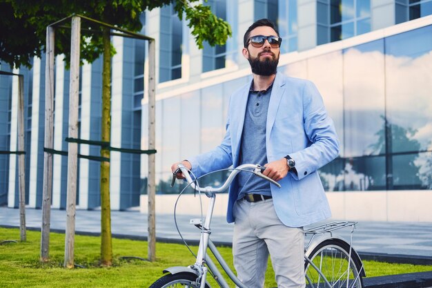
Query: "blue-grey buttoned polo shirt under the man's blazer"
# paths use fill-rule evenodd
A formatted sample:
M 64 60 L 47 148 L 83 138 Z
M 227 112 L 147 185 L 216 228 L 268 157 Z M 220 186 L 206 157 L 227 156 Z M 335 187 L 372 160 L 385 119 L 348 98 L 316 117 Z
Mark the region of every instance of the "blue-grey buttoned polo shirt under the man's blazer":
M 253 87 L 253 83 L 251 87 Z M 272 87 L 273 84 L 267 90 L 249 91 L 240 147 L 240 164 L 264 165 L 267 163 L 266 123 Z M 243 198 L 244 194 L 248 193 L 271 195 L 270 184 L 252 173 L 239 173 L 237 181 L 239 184 L 237 199 Z

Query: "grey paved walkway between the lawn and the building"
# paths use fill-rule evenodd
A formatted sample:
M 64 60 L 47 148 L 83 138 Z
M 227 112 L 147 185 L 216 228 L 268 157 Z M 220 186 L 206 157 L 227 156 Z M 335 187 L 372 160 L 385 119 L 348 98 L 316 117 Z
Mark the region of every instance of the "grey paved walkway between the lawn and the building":
M 26 209 L 27 227 L 41 227 L 39 209 Z M 188 224 L 190 218 L 197 215 L 178 215 L 179 229 L 187 240 L 199 239 L 199 229 Z M 112 233 L 126 238 L 146 238 L 147 215 L 139 211 L 112 211 Z M 19 227 L 19 210 L 0 207 L 0 226 Z M 64 230 L 66 211 L 51 211 L 51 229 Z M 100 232 L 100 211 L 77 210 L 76 231 L 84 233 Z M 215 242 L 230 244 L 233 226 L 227 224 L 224 217 L 215 217 L 212 221 L 212 239 Z M 180 240 L 175 229 L 173 215 L 157 215 L 157 238 Z M 349 229 L 338 231 L 337 235 L 349 240 Z M 1 240 L 1 235 L 0 235 Z M 425 258 L 432 264 L 432 223 L 422 222 L 365 222 L 357 224 L 353 235 L 353 246 L 363 255 L 402 256 L 407 258 Z

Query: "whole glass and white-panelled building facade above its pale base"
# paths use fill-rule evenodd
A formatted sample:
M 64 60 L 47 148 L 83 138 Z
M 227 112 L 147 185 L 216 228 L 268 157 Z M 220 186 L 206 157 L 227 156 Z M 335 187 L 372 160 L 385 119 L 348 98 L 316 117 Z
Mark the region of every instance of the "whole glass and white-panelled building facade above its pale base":
M 385 2 L 385 3 L 384 3 Z M 242 57 L 243 33 L 269 18 L 284 39 L 278 73 L 311 79 L 320 89 L 340 137 L 340 157 L 320 169 L 326 191 L 432 189 L 432 0 L 209 0 L 233 37 L 204 49 L 173 6 L 146 11 L 141 34 L 156 39 L 157 193 L 170 189 L 170 164 L 217 146 L 225 133 L 228 99 L 251 81 Z M 398 25 L 397 25 L 398 24 Z M 322 45 L 326 44 L 326 45 Z M 112 38 L 112 146 L 146 149 L 145 41 Z M 45 59 L 33 59 L 25 79 L 26 202 L 41 206 Z M 8 70 L 6 64 L 1 70 Z M 54 148 L 67 150 L 69 71 L 55 68 Z M 17 145 L 16 84 L 0 76 L 0 151 Z M 81 68 L 79 137 L 99 140 L 101 59 Z M 99 147 L 81 144 L 83 155 Z M 67 159 L 53 157 L 52 206 L 66 207 Z M 99 162 L 79 160 L 77 203 L 99 207 Z M 146 193 L 147 157 L 112 152 L 112 209 L 139 206 Z M 210 182 L 220 182 L 220 174 Z M 0 205 L 18 205 L 16 155 L 0 154 Z

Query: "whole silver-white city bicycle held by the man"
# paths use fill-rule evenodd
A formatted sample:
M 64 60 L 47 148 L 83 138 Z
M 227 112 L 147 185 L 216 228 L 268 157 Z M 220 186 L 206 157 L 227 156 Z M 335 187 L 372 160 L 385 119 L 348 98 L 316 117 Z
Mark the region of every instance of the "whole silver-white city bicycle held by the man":
M 232 282 L 239 288 L 245 287 L 242 282 L 235 276 L 235 273 L 228 267 L 224 258 L 222 258 L 215 244 L 210 240 L 210 222 L 213 215 L 213 208 L 215 206 L 216 194 L 226 191 L 228 186 L 233 182 L 235 176 L 241 171 L 248 171 L 254 173 L 258 177 L 268 180 L 272 184 L 280 187 L 279 183 L 275 182 L 269 177 L 262 174 L 264 167 L 259 164 L 243 164 L 235 169 L 232 169 L 228 178 L 217 188 L 207 186 L 200 187 L 198 179 L 193 180 L 190 176 L 190 171 L 185 166 L 179 164 L 177 170 L 173 173 L 173 180 L 171 186 L 175 183 L 175 174 L 181 171 L 186 177 L 188 186 L 191 186 L 198 193 L 204 193 L 210 202 L 208 204 L 208 211 L 206 218 L 192 219 L 190 224 L 194 224 L 201 229 L 201 237 L 199 241 L 199 248 L 196 255 L 195 264 L 188 267 L 169 267 L 164 269 L 166 275 L 156 280 L 149 288 L 169 288 L 169 287 L 190 287 L 190 288 L 210 288 L 206 281 L 208 273 L 210 273 L 217 285 L 221 288 L 228 288 L 228 282 L 222 276 L 221 271 L 217 268 L 213 260 L 208 256 L 207 250 L 213 253 L 213 256 L 219 262 L 219 265 L 225 271 L 226 275 Z M 183 191 L 184 191 L 183 189 Z M 181 193 L 183 193 L 183 191 Z M 204 223 L 204 224 L 203 224 Z M 322 224 L 311 229 L 306 229 L 304 232 L 306 236 L 311 236 L 308 244 L 305 245 L 304 254 L 304 269 L 306 278 L 306 287 L 346 287 L 346 288 L 362 288 L 363 277 L 365 277 L 362 260 L 358 253 L 352 247 L 353 231 L 356 222 L 339 221 Z M 342 229 L 344 227 L 351 227 L 351 240 L 346 240 L 333 236 L 333 231 Z M 186 242 L 185 242 L 186 244 Z M 187 246 L 187 244 L 186 244 Z M 190 250 L 191 251 L 191 250 Z M 191 253 L 193 253 L 191 251 Z M 194 254 L 195 255 L 195 254 Z

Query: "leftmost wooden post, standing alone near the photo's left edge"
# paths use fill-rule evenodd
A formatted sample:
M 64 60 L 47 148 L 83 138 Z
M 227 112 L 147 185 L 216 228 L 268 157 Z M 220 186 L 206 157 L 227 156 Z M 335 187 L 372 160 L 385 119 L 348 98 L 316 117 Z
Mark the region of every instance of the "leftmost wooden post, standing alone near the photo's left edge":
M 18 76 L 18 151 L 24 151 L 24 77 Z M 26 159 L 25 154 L 18 155 L 19 177 L 19 234 L 21 242 L 26 236 Z

